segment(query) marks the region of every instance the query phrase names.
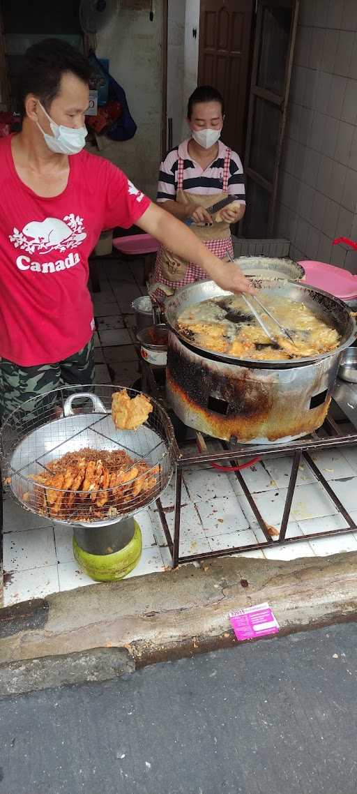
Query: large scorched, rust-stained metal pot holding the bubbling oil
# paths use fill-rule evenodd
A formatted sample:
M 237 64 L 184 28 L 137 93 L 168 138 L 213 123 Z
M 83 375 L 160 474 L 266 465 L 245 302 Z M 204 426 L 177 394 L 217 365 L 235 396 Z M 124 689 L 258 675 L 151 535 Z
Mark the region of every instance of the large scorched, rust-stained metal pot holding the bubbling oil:
M 227 295 L 214 282 L 191 284 L 167 301 L 170 326 L 167 399 L 186 425 L 213 437 L 243 443 L 283 443 L 312 433 L 324 422 L 342 351 L 355 339 L 347 306 L 327 293 L 289 281 L 259 279 L 255 287 L 331 319 L 338 349 L 296 360 L 239 360 L 188 343 L 176 328 L 179 314 L 202 300 Z

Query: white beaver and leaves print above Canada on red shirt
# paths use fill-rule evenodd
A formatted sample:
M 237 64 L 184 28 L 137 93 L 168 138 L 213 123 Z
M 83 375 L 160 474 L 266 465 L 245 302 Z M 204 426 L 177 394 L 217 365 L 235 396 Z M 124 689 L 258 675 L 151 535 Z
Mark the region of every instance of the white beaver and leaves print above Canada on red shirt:
M 59 218 L 45 218 L 44 221 L 30 221 L 22 231 L 14 228 L 10 242 L 15 248 L 28 253 L 64 252 L 78 248 L 86 239 L 83 218 L 73 213 Z

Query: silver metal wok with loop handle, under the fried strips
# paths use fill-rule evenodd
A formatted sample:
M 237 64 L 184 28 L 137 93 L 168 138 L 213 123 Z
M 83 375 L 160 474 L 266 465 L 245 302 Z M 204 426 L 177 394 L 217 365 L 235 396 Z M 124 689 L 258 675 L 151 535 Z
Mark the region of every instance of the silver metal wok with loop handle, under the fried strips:
M 144 425 L 138 430 L 117 430 L 111 418 L 111 400 L 113 392 L 121 387 L 90 389 L 59 388 L 30 399 L 13 411 L 1 430 L 2 471 L 14 499 L 26 510 L 72 526 L 109 526 L 146 507 L 166 488 L 175 461 L 175 436 L 170 419 L 154 399 L 152 413 Z M 138 394 L 132 389 L 127 391 L 130 396 Z M 133 495 L 137 491 L 133 488 L 135 478 L 129 477 L 125 488 L 106 489 L 106 501 L 100 508 L 88 498 L 83 500 L 83 493 L 81 496 L 81 491 L 76 491 L 71 510 L 69 491 L 58 489 L 63 500 L 54 515 L 50 505 L 46 507 L 48 488 L 31 478 L 48 472 L 48 464 L 66 453 L 86 448 L 97 457 L 103 451 L 122 450 L 132 460 L 144 462 L 150 488 Z M 126 468 L 132 471 L 129 464 Z M 100 488 L 97 493 L 99 497 L 103 495 Z

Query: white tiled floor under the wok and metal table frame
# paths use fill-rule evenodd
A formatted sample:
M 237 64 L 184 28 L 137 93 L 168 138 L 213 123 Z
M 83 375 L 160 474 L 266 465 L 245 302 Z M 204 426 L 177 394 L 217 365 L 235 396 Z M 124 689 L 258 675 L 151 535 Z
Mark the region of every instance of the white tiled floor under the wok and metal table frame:
M 119 279 L 119 274 L 121 278 Z M 135 318 L 131 301 L 144 292 L 140 264 L 131 268 L 111 262 L 102 267 L 102 291 L 94 295 L 98 331 L 95 335 L 98 383 L 131 386 L 139 376 L 135 341 Z M 313 457 L 341 502 L 357 519 L 357 448 L 324 451 Z M 278 527 L 282 519 L 291 460 L 278 457 L 244 471 L 244 480 L 268 524 Z M 175 486 L 171 483 L 162 498 L 171 530 L 174 521 Z M 130 576 L 162 571 L 170 565 L 165 536 L 155 505 L 136 515 L 143 535 L 140 564 Z M 182 486 L 182 532 L 180 553 L 249 545 L 263 534 L 251 512 L 236 477 L 205 466 L 184 472 Z M 307 463 L 301 464 L 287 537 L 347 526 L 335 505 L 317 482 Z M 71 527 L 52 525 L 17 507 L 6 496 L 4 502 L 5 603 L 48 595 L 93 584 L 79 571 L 71 547 Z M 326 556 L 357 550 L 357 534 L 316 538 L 296 545 L 275 546 L 247 552 L 248 557 L 290 560 Z

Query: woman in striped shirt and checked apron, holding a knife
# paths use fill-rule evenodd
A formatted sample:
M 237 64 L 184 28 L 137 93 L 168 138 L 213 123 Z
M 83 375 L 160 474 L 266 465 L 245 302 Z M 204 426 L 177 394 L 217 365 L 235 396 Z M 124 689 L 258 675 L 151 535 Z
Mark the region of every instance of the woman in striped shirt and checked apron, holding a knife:
M 221 141 L 223 98 L 210 86 L 191 94 L 187 120 L 191 137 L 168 153 L 160 167 L 157 201 L 165 210 L 190 223 L 190 228 L 220 259 L 233 254 L 230 224 L 243 218 L 244 176 L 239 156 Z M 228 195 L 237 197 L 217 216 L 213 206 Z M 160 248 L 152 277 L 152 294 L 163 303 L 178 287 L 206 279 L 205 272 L 168 249 Z

